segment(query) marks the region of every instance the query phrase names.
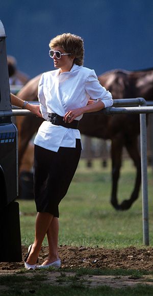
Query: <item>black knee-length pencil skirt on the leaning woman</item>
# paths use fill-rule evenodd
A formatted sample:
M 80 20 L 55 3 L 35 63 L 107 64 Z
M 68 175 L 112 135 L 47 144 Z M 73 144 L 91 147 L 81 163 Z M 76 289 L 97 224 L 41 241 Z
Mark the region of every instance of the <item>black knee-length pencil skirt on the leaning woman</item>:
M 80 155 L 80 139 L 76 139 L 75 148 L 60 147 L 58 152 L 35 145 L 34 195 L 37 212 L 59 217 L 59 203 L 68 190 Z

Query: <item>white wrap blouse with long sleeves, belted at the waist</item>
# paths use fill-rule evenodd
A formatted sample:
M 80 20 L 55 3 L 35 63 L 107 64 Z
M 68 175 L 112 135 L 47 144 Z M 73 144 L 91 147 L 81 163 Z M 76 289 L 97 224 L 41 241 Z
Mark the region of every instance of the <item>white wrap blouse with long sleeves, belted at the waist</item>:
M 57 69 L 43 73 L 39 81 L 38 98 L 44 119 L 47 119 L 48 113 L 64 116 L 70 109 L 84 107 L 89 98 L 103 102 L 105 107 L 113 105 L 111 93 L 100 85 L 95 71 L 76 64 L 69 72 L 60 73 L 60 69 Z M 75 120 L 80 120 L 82 116 Z M 45 120 L 34 143 L 58 152 L 60 146 L 75 147 L 75 139 L 81 139 L 79 130 L 55 126 Z

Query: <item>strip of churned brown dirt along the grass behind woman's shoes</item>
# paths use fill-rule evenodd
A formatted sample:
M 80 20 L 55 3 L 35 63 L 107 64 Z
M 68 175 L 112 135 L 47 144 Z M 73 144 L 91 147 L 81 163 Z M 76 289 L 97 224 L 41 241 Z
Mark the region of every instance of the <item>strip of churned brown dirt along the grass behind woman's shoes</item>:
M 27 254 L 28 248 L 22 246 L 22 257 Z M 42 247 L 39 263 L 47 257 L 48 248 Z M 134 246 L 119 250 L 59 246 L 61 268 L 86 267 L 86 268 L 110 268 L 110 269 L 139 269 L 153 270 L 153 248 L 137 249 Z M 23 262 L 0 262 L 0 270 L 18 270 L 24 267 Z

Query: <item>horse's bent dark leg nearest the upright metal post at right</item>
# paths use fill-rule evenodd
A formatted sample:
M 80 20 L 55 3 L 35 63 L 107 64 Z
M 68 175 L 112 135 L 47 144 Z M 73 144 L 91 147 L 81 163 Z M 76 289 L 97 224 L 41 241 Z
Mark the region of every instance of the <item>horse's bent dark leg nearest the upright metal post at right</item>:
M 140 153 L 138 149 L 137 138 L 134 139 L 133 141 L 130 141 L 129 143 L 125 143 L 125 146 L 126 146 L 127 152 L 129 153 L 129 155 L 134 161 L 134 164 L 137 170 L 137 175 L 136 175 L 134 190 L 131 194 L 131 197 L 129 200 L 124 200 L 121 203 L 120 205 L 121 210 L 128 210 L 131 207 L 131 205 L 134 203 L 134 201 L 138 199 L 139 189 L 141 185 L 141 158 L 140 158 Z

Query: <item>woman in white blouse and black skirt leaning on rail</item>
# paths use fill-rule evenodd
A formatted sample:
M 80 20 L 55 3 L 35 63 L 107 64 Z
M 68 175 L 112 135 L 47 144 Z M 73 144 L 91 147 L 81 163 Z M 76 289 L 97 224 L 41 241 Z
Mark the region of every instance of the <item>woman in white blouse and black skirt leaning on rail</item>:
M 94 70 L 83 67 L 81 37 L 62 34 L 53 38 L 49 47 L 49 56 L 56 70 L 43 73 L 38 86 L 40 110 L 46 120 L 34 141 L 34 194 L 38 213 L 35 241 L 24 260 L 28 269 L 60 267 L 58 205 L 68 190 L 80 159 L 78 122 L 84 113 L 113 104 L 111 93 L 99 84 Z M 96 103 L 88 103 L 90 99 Z M 41 265 L 37 265 L 45 234 L 49 254 Z

